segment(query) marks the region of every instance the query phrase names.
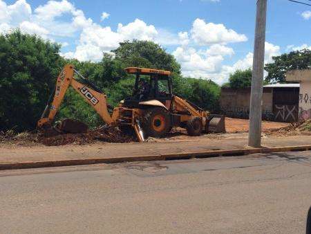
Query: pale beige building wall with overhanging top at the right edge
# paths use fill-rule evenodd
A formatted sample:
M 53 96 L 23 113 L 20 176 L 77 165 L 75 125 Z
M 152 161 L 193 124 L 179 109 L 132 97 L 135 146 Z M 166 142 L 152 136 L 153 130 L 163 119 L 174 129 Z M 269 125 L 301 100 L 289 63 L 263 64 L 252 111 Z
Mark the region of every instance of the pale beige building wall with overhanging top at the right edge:
M 311 118 L 311 69 L 289 71 L 286 80 L 300 83 L 299 119 Z

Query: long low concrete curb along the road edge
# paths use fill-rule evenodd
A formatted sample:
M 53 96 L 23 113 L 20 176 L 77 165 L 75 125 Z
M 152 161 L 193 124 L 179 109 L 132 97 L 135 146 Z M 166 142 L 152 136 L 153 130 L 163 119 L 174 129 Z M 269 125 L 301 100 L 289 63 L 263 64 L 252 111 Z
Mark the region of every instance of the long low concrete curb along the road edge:
M 123 163 L 131 161 L 163 161 L 163 160 L 177 160 L 177 159 L 195 159 L 195 158 L 209 158 L 217 156 L 241 156 L 258 153 L 271 152 L 295 152 L 311 150 L 311 145 L 299 146 L 285 146 L 285 147 L 261 147 L 248 148 L 238 150 L 208 150 L 205 152 L 187 152 L 178 154 L 155 154 L 145 156 L 131 156 L 131 157 L 114 157 L 114 158 L 95 158 L 95 159 L 67 159 L 58 161 L 29 161 L 17 163 L 0 163 L 0 170 L 14 170 L 27 168 L 50 168 L 62 167 L 68 165 L 91 165 L 98 163 Z

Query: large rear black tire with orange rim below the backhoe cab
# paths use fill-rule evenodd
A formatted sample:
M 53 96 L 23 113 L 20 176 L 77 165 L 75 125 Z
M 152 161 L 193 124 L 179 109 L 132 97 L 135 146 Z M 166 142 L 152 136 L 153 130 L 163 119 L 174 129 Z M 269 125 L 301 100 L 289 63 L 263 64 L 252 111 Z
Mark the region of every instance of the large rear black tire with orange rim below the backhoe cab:
M 164 137 L 171 129 L 169 112 L 161 107 L 147 110 L 142 121 L 144 134 L 156 138 Z

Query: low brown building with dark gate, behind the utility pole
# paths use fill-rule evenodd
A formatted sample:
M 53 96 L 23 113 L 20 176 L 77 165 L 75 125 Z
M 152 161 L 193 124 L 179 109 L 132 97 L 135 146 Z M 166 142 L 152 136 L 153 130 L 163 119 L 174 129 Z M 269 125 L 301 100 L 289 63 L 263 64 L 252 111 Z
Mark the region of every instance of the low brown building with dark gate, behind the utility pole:
M 250 92 L 250 87 L 221 88 L 220 109 L 223 114 L 233 118 L 249 118 Z M 298 120 L 299 84 L 265 85 L 262 111 L 265 120 L 287 123 Z

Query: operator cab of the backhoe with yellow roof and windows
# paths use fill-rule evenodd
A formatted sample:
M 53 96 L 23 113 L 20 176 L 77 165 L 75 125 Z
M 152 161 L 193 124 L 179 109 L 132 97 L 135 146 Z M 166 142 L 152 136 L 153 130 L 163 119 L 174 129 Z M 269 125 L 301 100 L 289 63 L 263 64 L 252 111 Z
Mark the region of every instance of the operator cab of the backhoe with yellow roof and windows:
M 136 75 L 133 96 L 124 100 L 126 106 L 138 105 L 139 102 L 147 100 L 159 100 L 164 104 L 167 100 L 172 99 L 170 71 L 138 67 L 128 67 L 125 71 Z

